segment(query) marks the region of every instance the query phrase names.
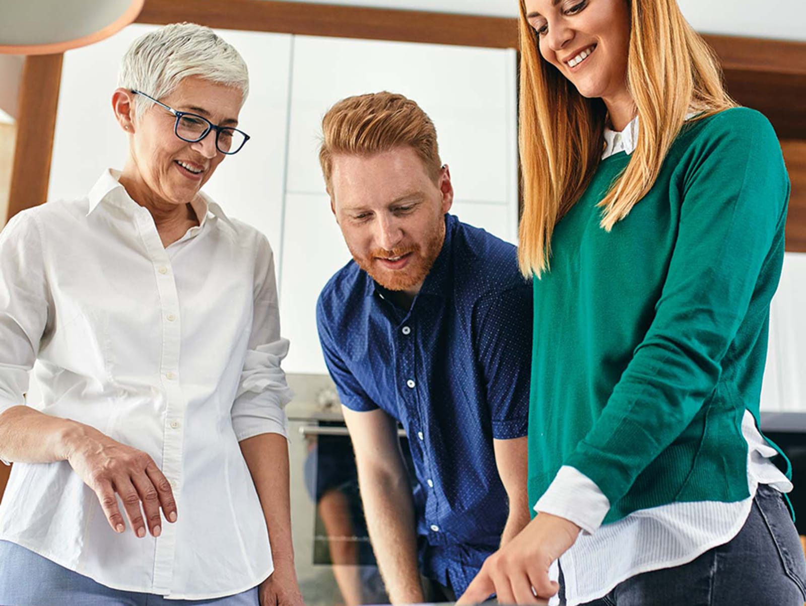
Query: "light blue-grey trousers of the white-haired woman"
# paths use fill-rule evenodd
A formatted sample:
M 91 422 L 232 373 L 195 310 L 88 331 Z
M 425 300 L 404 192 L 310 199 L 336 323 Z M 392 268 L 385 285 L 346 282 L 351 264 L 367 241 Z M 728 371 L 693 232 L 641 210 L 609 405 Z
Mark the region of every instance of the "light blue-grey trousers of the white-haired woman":
M 0 541 L 2 606 L 258 606 L 257 587 L 215 600 L 165 600 L 110 589 L 15 543 Z

